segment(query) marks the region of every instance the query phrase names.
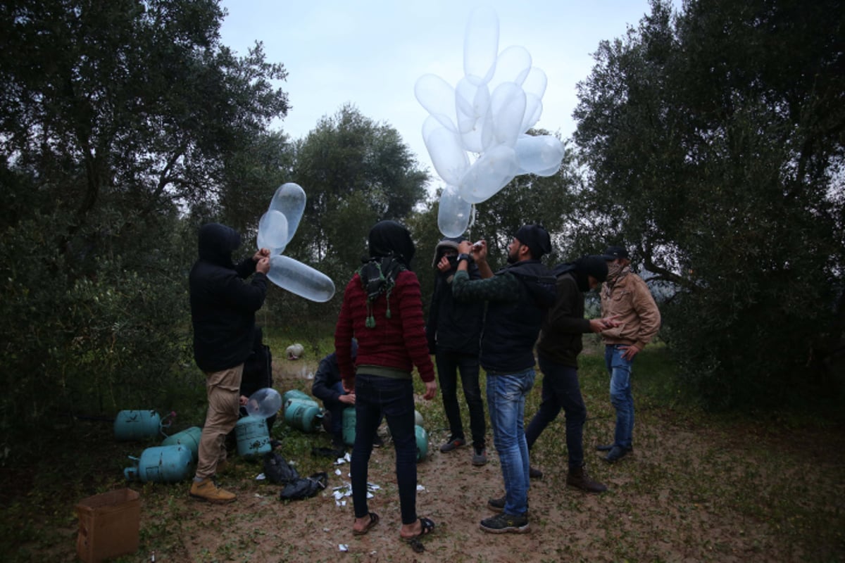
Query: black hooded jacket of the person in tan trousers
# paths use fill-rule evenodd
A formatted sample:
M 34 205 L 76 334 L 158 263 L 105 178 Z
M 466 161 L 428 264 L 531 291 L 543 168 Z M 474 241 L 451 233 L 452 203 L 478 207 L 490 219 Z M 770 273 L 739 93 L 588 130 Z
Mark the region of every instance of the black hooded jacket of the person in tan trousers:
M 241 235 L 226 225 L 199 229 L 199 260 L 188 278 L 194 360 L 202 371 L 223 371 L 243 364 L 253 349 L 255 311 L 264 304 L 267 277 L 255 272 L 251 257 L 237 265 L 232 252 Z M 255 273 L 249 284 L 243 279 Z

